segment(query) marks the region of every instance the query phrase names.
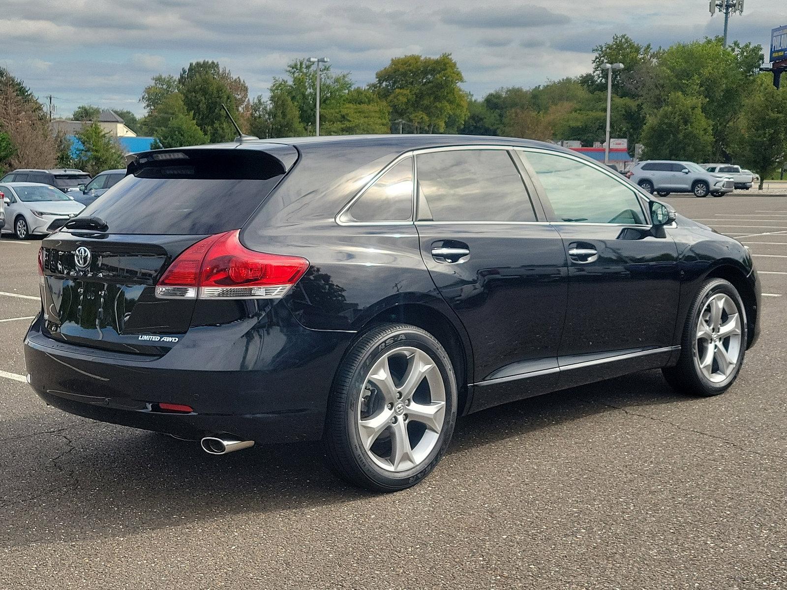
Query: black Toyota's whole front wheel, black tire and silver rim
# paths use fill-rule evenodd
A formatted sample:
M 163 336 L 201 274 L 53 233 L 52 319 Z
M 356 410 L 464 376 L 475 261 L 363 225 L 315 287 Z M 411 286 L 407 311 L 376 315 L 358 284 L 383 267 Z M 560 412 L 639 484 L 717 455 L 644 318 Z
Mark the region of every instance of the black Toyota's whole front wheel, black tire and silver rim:
M 746 353 L 746 311 L 737 289 L 708 279 L 694 298 L 683 327 L 681 356 L 664 378 L 681 393 L 718 396 L 735 382 Z

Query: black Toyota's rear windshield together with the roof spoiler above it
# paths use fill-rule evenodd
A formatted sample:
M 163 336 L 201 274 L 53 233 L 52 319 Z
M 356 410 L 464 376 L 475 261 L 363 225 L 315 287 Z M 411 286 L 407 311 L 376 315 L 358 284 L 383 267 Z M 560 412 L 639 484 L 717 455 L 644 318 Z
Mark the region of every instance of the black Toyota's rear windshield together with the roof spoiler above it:
M 100 217 L 109 234 L 237 230 L 285 173 L 278 159 L 251 149 L 154 152 L 145 160 L 81 216 Z

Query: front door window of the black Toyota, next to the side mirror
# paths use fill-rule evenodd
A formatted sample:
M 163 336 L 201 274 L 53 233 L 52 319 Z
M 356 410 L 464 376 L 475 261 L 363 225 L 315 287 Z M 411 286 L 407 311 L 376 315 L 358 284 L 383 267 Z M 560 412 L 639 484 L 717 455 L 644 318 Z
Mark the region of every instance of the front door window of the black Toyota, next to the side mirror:
M 557 219 L 645 224 L 634 190 L 589 164 L 550 153 L 523 154 L 538 174 Z

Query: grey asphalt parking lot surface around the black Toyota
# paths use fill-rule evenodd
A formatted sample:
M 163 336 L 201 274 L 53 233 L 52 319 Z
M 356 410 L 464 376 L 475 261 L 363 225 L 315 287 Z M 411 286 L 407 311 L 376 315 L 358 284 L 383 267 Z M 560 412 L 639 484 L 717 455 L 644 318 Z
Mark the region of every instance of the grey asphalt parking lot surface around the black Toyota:
M 38 241 L 0 241 L 0 588 L 785 588 L 787 197 L 667 197 L 741 236 L 763 335 L 726 394 L 658 371 L 460 419 L 395 495 L 312 445 L 212 457 L 45 407 L 21 343 Z

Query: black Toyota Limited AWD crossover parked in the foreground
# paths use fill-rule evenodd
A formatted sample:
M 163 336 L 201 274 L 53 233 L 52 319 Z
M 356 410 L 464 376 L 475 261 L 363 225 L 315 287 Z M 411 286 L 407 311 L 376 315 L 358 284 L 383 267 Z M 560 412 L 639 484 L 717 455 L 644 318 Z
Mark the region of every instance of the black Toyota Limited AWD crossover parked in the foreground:
M 539 142 L 395 135 L 139 153 L 50 235 L 28 380 L 223 454 L 321 439 L 416 484 L 457 415 L 643 369 L 730 387 L 759 331 L 739 242 Z

